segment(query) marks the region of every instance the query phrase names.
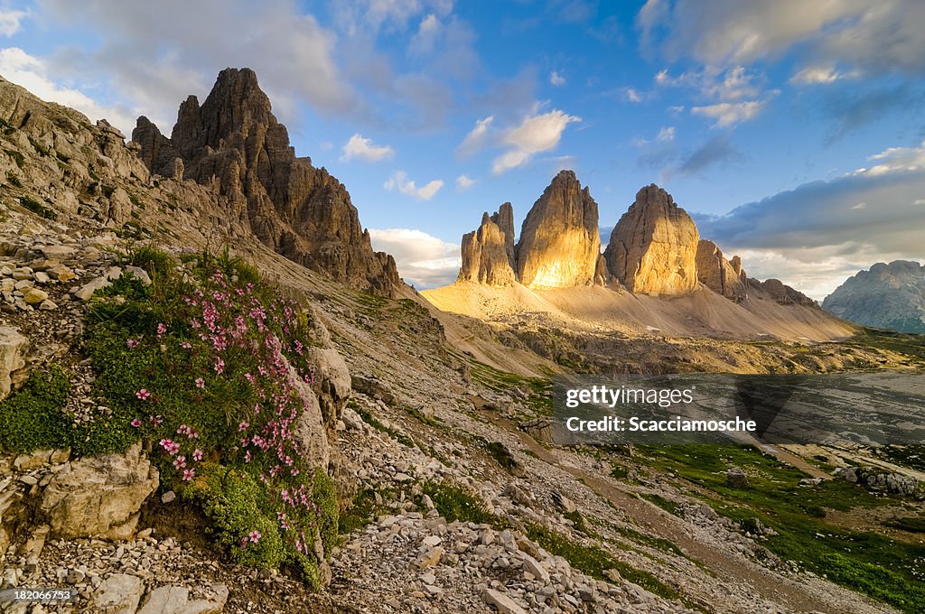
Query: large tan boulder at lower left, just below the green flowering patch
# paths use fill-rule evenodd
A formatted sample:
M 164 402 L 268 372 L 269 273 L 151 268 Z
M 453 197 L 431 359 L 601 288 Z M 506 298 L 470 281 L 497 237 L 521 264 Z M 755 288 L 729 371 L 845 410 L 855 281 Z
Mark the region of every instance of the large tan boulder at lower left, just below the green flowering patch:
M 157 469 L 138 442 L 122 454 L 66 464 L 45 488 L 41 509 L 56 537 L 128 539 L 157 484 Z

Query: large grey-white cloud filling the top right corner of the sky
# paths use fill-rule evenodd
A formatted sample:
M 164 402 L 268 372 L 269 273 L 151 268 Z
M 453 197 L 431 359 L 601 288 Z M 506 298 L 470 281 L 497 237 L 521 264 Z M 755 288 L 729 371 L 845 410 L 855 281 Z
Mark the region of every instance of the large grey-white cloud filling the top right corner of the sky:
M 651 52 L 713 67 L 780 57 L 802 45 L 820 65 L 920 74 L 923 20 L 920 0 L 648 0 L 636 27 Z

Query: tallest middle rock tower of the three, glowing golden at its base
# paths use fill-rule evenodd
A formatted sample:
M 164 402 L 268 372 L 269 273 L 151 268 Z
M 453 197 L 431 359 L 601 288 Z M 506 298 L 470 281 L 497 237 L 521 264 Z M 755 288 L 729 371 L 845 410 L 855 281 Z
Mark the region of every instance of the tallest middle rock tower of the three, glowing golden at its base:
M 517 277 L 528 288 L 595 282 L 600 254 L 598 203 L 571 170 L 563 170 L 524 219 L 515 249 Z

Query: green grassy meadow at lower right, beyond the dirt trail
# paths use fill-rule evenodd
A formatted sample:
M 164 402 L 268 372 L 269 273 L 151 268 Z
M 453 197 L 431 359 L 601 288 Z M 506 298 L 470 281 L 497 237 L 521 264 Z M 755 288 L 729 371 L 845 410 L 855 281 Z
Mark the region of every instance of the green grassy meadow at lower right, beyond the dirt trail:
M 801 487 L 805 473 L 750 446 L 637 449 L 652 465 L 715 493 L 718 498 L 707 501 L 723 516 L 774 529 L 762 543 L 782 559 L 903 611 L 925 610 L 925 546 L 845 529 L 825 517 L 825 510 L 875 508 L 889 505 L 889 498 L 841 480 Z M 748 475 L 747 488 L 726 485 L 725 472 L 734 466 Z

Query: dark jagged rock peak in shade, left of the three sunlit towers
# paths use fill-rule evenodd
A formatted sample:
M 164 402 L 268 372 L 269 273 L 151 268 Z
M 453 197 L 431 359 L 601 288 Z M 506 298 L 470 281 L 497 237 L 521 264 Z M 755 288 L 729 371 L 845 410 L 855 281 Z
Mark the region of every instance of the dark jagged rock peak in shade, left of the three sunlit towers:
M 229 215 L 290 260 L 385 296 L 401 287 L 395 261 L 373 251 L 343 184 L 296 157 L 253 70 L 226 68 L 202 105 L 187 98 L 170 139 L 142 117 L 132 140 L 154 173 L 182 173 L 227 195 Z

